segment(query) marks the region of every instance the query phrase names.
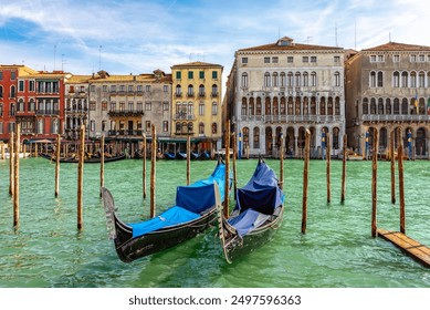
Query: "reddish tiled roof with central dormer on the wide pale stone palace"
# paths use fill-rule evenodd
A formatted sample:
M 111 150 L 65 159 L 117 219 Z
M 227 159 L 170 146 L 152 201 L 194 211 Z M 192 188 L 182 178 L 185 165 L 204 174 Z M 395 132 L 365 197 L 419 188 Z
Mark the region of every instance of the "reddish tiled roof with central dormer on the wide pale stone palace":
M 258 52 L 258 51 L 321 51 L 321 50 L 338 50 L 343 51 L 343 48 L 337 46 L 324 46 L 313 44 L 294 43 L 294 40 L 289 37 L 283 37 L 274 43 L 258 45 L 252 48 L 245 48 L 238 50 L 238 52 Z

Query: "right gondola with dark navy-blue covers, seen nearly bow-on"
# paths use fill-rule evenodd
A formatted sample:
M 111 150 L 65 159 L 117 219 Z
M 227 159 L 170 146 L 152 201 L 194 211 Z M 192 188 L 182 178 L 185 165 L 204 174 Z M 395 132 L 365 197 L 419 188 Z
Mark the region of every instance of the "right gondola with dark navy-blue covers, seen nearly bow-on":
M 221 208 L 217 197 L 217 205 Z M 218 213 L 219 237 L 227 262 L 231 264 L 268 244 L 281 226 L 284 194 L 275 173 L 259 159 L 249 183 L 237 189 L 237 205 L 229 218 Z

